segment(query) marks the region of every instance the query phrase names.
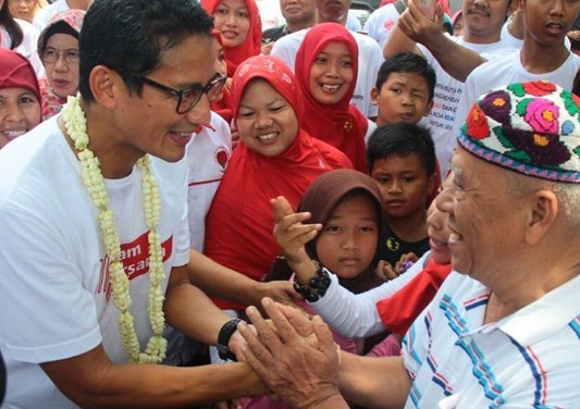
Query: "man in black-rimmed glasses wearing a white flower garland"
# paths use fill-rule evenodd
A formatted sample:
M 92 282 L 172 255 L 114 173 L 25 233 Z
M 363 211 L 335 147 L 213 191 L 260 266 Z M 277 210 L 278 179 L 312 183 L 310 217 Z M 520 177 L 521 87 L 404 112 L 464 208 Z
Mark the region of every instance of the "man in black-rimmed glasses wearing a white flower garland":
M 157 364 L 165 323 L 224 354 L 242 346 L 237 322 L 192 285 L 194 268 L 227 271 L 200 255 L 188 267 L 184 154 L 224 82 L 211 28 L 190 0 L 95 1 L 79 97 L 2 149 L 8 408 L 193 407 L 267 392 L 245 363 Z M 45 57 L 74 58 L 61 52 Z

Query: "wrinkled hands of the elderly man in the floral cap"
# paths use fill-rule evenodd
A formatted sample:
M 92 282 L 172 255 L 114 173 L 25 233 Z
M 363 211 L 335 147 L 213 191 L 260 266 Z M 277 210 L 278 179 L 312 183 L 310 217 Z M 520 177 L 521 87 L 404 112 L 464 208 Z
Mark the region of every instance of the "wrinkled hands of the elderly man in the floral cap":
M 274 329 L 255 307 L 246 313 L 257 335 L 240 324 L 247 342 L 244 361 L 286 404 L 308 408 L 340 396 L 338 354 L 329 326 L 320 317 L 310 321 L 303 312 L 263 299 L 262 307 Z

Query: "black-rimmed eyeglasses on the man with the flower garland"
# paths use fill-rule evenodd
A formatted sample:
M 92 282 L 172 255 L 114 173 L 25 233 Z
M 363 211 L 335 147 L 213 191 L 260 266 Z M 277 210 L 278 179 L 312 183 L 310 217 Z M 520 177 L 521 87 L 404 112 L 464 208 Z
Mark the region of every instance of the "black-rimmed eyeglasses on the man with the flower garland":
M 197 103 L 199 102 L 203 94 L 207 94 L 210 101 L 214 100 L 220 95 L 220 92 L 223 90 L 223 86 L 225 84 L 225 80 L 227 79 L 227 76 L 218 73 L 205 86 L 194 85 L 190 88 L 177 90 L 177 89 L 168 87 L 166 85 L 159 84 L 158 82 L 152 80 L 151 78 L 147 78 L 146 76 L 140 76 L 137 74 L 132 74 L 132 73 L 127 73 L 127 75 L 134 79 L 140 80 L 144 84 L 147 84 L 153 88 L 157 88 L 165 94 L 176 97 L 177 107 L 175 108 L 175 111 L 178 114 L 184 114 L 184 113 L 192 111 L 195 108 L 195 106 L 197 106 Z

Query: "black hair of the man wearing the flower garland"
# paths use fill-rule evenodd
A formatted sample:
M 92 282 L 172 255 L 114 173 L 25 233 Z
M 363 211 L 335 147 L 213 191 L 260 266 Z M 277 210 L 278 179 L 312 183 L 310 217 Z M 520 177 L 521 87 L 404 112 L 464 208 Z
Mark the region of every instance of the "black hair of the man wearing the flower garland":
M 163 52 L 190 35 L 212 38 L 213 17 L 193 0 L 97 0 L 87 11 L 78 38 L 79 90 L 95 98 L 89 75 L 97 65 L 119 72 L 129 90 L 143 84 L 128 73 L 147 75 L 161 65 Z

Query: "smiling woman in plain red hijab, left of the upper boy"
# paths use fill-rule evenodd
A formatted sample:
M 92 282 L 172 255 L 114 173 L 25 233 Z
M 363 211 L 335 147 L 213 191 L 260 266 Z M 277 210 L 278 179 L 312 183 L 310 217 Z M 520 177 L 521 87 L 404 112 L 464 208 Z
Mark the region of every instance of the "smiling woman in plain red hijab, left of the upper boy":
M 305 129 L 342 150 L 356 170 L 367 173 L 365 136 L 370 121 L 350 104 L 358 73 L 353 35 L 341 24 L 317 24 L 298 49 L 295 73 L 305 96 L 300 100 Z

